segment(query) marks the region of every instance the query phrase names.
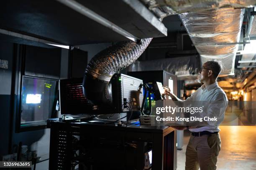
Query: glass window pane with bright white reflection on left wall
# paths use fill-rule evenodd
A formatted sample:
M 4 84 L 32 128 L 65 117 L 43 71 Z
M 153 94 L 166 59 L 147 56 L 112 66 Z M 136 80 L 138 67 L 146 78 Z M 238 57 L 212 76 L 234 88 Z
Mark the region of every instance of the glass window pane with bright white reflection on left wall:
M 53 111 L 56 81 L 23 77 L 20 126 L 45 125 Z

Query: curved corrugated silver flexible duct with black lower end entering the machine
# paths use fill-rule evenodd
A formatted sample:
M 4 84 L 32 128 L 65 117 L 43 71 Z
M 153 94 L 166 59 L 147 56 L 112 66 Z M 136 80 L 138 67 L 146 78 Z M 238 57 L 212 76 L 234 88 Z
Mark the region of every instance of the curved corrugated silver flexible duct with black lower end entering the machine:
M 94 104 L 111 104 L 111 77 L 137 60 L 151 40 L 142 39 L 140 44 L 133 41 L 118 42 L 95 55 L 85 70 L 84 96 Z

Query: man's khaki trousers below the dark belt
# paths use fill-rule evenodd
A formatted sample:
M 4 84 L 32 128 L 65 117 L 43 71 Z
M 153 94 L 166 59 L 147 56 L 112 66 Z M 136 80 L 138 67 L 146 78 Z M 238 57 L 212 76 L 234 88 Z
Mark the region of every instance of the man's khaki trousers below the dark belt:
M 186 150 L 185 170 L 216 170 L 217 156 L 220 151 L 220 134 L 190 135 Z

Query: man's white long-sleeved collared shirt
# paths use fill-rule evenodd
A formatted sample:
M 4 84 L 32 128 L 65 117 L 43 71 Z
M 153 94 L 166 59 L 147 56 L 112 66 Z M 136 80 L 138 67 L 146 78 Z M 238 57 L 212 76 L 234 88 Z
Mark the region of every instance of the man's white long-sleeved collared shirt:
M 184 100 L 184 103 L 206 101 L 209 103 L 207 108 L 200 113 L 200 117 L 217 117 L 218 121 L 207 121 L 208 125 L 201 128 L 189 129 L 191 132 L 218 132 L 219 125 L 224 120 L 225 110 L 228 106 L 228 97 L 225 92 L 218 86 L 218 83 L 211 85 L 202 85 L 197 91 L 192 93 L 190 97 Z

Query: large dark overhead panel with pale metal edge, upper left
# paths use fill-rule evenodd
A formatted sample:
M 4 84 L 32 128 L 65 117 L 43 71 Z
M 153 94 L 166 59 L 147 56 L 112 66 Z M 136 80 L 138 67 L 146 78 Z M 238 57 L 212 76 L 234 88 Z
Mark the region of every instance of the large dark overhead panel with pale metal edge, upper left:
M 83 45 L 167 35 L 164 24 L 138 0 L 9 0 L 0 6 L 0 21 L 1 34 L 50 44 Z

